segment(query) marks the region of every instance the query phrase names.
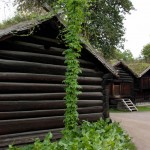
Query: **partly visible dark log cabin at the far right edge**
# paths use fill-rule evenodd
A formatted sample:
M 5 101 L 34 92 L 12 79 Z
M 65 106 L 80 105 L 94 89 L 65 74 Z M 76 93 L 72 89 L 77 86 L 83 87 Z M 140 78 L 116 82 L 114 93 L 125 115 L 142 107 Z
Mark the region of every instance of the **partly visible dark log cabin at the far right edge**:
M 136 102 L 150 102 L 150 66 L 138 76 L 139 92 L 136 95 Z

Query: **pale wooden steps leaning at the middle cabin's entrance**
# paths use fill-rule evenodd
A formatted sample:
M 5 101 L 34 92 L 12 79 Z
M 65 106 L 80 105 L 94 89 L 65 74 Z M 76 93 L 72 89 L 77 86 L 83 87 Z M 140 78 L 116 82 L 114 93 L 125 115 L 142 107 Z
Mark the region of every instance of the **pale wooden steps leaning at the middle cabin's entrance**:
M 123 105 L 126 107 L 127 110 L 129 111 L 138 111 L 137 107 L 134 105 L 134 103 L 128 99 L 121 99 L 121 102 L 123 103 Z

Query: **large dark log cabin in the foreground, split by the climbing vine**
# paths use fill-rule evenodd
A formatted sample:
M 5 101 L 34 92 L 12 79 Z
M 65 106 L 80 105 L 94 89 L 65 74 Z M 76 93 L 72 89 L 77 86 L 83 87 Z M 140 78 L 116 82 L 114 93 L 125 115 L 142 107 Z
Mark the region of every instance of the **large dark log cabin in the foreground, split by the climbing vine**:
M 43 139 L 54 140 L 64 127 L 65 57 L 57 16 L 21 22 L 0 30 L 0 149 Z M 82 39 L 78 82 L 79 124 L 109 117 L 108 83 L 116 70 Z

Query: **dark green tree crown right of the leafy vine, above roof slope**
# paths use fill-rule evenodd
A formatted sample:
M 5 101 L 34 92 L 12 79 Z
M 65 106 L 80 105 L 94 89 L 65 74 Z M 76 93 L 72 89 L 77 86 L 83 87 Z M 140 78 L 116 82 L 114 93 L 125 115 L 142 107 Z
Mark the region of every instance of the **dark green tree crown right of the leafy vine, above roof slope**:
M 105 58 L 109 59 L 116 47 L 122 46 L 123 20 L 132 9 L 130 0 L 96 0 L 92 3 L 89 39 Z

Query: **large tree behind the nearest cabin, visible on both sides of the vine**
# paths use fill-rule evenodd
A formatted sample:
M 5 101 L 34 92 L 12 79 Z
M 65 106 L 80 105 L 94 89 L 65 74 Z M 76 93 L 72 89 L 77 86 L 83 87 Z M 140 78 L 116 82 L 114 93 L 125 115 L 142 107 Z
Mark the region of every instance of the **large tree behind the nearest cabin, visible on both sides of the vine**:
M 56 6 L 58 0 L 15 0 L 18 10 L 37 11 L 44 2 Z M 81 1 L 81 0 L 80 0 Z M 116 47 L 122 47 L 125 33 L 123 20 L 125 14 L 133 9 L 130 0 L 86 0 L 90 2 L 86 21 L 82 27 L 83 35 L 90 43 L 102 51 L 105 58 L 109 59 Z M 53 3 L 55 2 L 55 3 Z M 71 0 L 68 0 L 68 3 Z M 61 1 L 62 8 L 65 5 Z M 53 6 L 54 6 L 53 5 Z

